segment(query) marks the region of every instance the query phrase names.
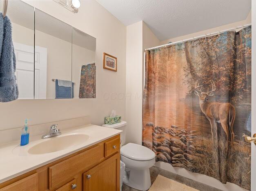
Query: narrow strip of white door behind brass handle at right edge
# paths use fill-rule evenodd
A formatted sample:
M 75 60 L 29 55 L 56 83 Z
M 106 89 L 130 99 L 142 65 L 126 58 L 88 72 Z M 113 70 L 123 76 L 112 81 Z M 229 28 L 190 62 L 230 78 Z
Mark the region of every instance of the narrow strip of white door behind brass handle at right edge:
M 256 1 L 252 1 L 252 135 L 256 133 Z M 252 143 L 251 191 L 256 191 L 256 145 Z

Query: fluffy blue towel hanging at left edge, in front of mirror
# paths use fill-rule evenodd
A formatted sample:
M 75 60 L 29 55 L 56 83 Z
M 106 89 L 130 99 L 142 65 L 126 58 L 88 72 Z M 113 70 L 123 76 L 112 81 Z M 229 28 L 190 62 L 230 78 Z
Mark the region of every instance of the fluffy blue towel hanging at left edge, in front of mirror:
M 19 95 L 11 30 L 11 21 L 0 13 L 0 102 L 16 100 Z

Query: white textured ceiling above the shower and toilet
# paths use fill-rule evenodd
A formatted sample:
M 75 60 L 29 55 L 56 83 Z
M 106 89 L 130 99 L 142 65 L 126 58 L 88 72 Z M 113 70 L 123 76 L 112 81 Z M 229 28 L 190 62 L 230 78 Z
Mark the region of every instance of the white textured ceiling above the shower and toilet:
M 97 0 L 123 24 L 143 20 L 159 40 L 245 20 L 251 0 Z

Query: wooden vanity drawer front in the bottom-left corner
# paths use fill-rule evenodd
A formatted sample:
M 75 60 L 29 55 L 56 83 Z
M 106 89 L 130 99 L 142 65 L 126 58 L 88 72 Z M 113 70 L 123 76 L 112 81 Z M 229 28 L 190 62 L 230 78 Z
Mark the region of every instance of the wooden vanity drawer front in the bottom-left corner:
M 38 174 L 32 174 L 17 182 L 9 184 L 0 191 L 38 191 Z

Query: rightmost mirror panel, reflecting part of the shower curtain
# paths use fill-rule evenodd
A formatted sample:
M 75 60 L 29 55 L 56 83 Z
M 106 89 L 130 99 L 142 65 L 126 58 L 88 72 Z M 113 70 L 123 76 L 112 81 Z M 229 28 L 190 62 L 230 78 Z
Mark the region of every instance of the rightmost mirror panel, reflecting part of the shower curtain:
M 96 98 L 96 38 L 72 29 L 74 98 Z

